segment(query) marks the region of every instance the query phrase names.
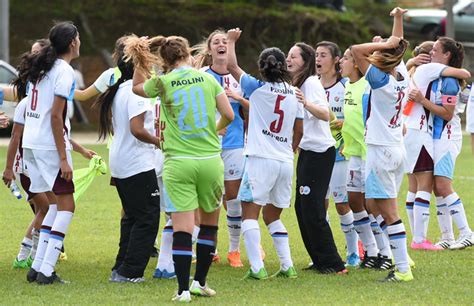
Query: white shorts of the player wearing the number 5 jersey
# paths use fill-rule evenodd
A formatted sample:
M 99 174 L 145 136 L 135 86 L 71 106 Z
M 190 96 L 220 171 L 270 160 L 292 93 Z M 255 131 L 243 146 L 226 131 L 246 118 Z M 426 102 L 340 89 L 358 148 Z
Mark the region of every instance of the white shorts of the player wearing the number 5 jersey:
M 290 207 L 293 164 L 249 156 L 245 163 L 238 199 L 278 208 Z

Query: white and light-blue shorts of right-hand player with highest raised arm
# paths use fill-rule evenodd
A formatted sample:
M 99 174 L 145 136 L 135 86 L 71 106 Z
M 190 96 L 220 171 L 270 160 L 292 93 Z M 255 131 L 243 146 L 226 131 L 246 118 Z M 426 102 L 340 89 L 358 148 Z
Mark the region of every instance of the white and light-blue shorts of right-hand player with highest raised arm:
M 405 148 L 367 145 L 365 198 L 396 199 L 404 174 Z

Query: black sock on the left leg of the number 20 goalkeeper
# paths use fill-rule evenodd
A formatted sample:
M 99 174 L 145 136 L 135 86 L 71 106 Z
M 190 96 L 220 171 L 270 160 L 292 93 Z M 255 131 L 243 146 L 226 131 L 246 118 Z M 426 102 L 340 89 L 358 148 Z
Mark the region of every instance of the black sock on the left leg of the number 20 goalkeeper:
M 191 234 L 186 232 L 173 233 L 173 261 L 176 278 L 178 279 L 178 294 L 189 290 L 189 273 L 192 257 Z

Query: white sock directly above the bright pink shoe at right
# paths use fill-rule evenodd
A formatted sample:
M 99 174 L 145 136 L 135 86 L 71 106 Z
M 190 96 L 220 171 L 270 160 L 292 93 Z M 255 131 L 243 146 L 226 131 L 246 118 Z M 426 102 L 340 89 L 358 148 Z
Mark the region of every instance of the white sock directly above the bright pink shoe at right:
M 427 191 L 416 193 L 415 204 L 413 204 L 413 241 L 422 243 L 428 234 L 428 224 L 430 222 L 430 198 Z

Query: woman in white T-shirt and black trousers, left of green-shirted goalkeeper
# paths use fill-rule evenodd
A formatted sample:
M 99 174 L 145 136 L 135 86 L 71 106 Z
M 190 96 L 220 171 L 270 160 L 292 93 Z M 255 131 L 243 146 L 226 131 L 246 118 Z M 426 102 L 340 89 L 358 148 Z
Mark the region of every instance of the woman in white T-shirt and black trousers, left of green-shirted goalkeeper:
M 94 103 L 99 109 L 99 137 L 114 131 L 110 172 L 122 202 L 120 243 L 111 282 L 143 282 L 159 226 L 159 194 L 155 172 L 159 139 L 154 135 L 150 99 L 132 92 L 133 63 L 118 60 L 121 76 Z

